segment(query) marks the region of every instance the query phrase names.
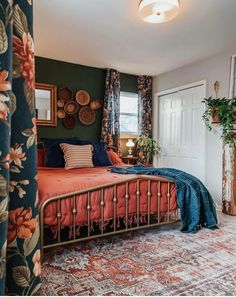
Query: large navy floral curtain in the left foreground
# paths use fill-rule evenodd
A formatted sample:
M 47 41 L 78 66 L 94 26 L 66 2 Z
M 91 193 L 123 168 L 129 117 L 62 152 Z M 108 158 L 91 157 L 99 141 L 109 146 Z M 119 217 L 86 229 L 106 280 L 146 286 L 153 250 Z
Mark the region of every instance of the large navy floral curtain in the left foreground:
M 40 287 L 31 0 L 0 2 L 0 295 Z

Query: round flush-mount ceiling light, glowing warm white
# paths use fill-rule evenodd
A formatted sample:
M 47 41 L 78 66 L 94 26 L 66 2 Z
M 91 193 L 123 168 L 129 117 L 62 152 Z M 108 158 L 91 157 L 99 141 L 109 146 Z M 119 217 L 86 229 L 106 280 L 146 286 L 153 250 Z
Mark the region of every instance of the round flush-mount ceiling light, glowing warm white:
M 141 0 L 139 12 L 142 19 L 148 23 L 164 23 L 177 16 L 178 0 Z

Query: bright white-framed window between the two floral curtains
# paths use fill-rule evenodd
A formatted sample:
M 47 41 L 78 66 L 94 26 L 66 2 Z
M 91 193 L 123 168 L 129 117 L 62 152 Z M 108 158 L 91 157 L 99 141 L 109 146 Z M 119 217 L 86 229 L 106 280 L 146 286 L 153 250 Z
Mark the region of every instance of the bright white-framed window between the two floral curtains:
M 120 133 L 121 136 L 138 135 L 138 94 L 120 94 Z

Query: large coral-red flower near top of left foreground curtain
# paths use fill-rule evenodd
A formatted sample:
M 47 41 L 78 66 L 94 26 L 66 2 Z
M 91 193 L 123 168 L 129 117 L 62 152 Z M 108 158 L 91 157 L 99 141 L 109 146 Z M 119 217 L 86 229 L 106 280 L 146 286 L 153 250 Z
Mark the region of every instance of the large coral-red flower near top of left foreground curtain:
M 27 87 L 34 89 L 34 42 L 30 33 L 23 33 L 22 40 L 13 36 L 13 47 L 14 54 L 19 59 L 20 75 L 26 79 Z

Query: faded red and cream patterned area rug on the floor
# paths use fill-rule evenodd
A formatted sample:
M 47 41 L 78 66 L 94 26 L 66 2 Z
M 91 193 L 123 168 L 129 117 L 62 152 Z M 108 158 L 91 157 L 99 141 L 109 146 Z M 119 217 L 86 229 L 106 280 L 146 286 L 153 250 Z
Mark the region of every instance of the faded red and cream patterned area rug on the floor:
M 236 217 L 220 229 L 179 225 L 46 253 L 42 295 L 236 295 Z

